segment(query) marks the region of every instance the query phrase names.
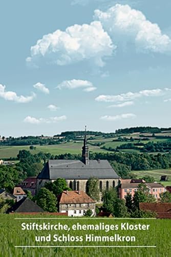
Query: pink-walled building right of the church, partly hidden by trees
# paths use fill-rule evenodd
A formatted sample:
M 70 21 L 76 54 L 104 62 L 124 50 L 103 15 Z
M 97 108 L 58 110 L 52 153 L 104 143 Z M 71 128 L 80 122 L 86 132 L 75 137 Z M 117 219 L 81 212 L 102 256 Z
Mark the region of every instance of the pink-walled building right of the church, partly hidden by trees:
M 144 185 L 148 188 L 148 192 L 152 194 L 156 199 L 160 198 L 160 194 L 165 192 L 164 186 L 160 183 L 146 183 L 143 182 Z M 119 198 L 125 199 L 125 196 L 129 193 L 133 197 L 135 192 L 138 190 L 138 186 L 141 183 L 121 183 L 118 187 Z

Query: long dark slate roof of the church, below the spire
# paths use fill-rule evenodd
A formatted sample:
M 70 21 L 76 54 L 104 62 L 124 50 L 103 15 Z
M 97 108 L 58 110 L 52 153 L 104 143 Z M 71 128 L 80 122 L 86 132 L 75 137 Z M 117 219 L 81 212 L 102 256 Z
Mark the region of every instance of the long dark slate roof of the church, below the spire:
M 119 178 L 108 160 L 90 160 L 85 165 L 80 160 L 49 160 L 38 174 L 38 179 L 99 179 Z

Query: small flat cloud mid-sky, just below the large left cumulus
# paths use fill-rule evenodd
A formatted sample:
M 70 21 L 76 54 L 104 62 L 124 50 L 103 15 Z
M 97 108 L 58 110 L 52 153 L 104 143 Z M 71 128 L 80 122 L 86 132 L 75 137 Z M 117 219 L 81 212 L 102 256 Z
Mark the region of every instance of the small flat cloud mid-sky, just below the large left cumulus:
M 88 80 L 65 80 L 61 82 L 56 88 L 62 89 L 62 88 L 68 88 L 68 89 L 75 89 L 83 87 L 84 91 L 90 92 L 96 89 L 95 86 L 93 86 L 92 82 Z

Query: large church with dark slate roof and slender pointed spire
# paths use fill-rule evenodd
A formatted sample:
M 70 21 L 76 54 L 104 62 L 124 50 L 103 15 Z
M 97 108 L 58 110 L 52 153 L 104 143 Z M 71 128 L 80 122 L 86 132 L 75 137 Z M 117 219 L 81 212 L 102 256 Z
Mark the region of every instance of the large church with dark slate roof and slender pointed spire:
M 99 179 L 100 192 L 116 187 L 119 176 L 108 160 L 90 160 L 87 135 L 85 130 L 82 146 L 82 160 L 49 160 L 37 176 L 37 191 L 46 182 L 54 182 L 57 178 L 65 178 L 72 190 L 87 192 L 87 181 L 90 177 Z

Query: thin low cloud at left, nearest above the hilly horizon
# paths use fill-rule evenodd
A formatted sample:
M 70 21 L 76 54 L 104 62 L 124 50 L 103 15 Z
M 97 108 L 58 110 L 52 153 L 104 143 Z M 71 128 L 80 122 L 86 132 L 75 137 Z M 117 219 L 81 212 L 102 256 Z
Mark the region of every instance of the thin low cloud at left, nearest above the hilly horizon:
M 56 123 L 58 121 L 66 120 L 67 117 L 65 115 L 62 116 L 56 116 L 56 117 L 50 117 L 49 119 L 44 118 L 34 118 L 31 116 L 27 116 L 24 119 L 24 122 L 31 123 L 31 124 L 40 124 L 40 123 Z

